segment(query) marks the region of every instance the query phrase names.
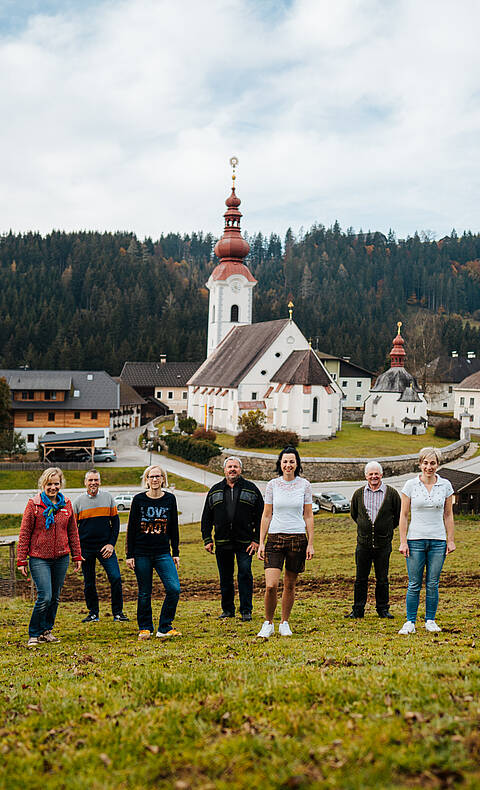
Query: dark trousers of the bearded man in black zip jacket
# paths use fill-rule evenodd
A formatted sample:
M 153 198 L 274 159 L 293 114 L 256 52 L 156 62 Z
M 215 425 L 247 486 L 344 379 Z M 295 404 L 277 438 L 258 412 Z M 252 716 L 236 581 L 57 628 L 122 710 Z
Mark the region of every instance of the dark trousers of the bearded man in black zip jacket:
M 233 574 L 235 570 L 235 557 L 238 569 L 238 595 L 240 598 L 240 614 L 252 613 L 252 557 L 247 554 L 247 543 L 229 543 L 226 546 L 216 546 L 218 573 L 220 575 L 220 593 L 222 596 L 222 611 L 225 614 L 235 614 L 235 587 Z

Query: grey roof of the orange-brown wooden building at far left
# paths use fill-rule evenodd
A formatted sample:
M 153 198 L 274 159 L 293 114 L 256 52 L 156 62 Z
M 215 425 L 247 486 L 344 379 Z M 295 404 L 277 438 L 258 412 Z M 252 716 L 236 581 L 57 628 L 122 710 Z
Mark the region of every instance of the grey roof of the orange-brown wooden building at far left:
M 118 409 L 119 385 L 105 370 L 0 370 L 13 390 L 57 390 L 66 392 L 64 401 L 12 401 L 12 408 L 25 410 Z M 67 386 L 66 385 L 68 382 Z M 61 386 L 62 385 L 62 386 Z M 75 392 L 78 396 L 75 397 Z

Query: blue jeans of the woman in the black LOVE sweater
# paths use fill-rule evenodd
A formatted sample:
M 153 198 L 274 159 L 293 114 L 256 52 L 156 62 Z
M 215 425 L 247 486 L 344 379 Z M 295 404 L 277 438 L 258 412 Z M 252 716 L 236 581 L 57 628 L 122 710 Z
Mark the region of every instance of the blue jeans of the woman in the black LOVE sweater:
M 135 557 L 135 575 L 138 582 L 137 622 L 141 631 L 153 632 L 152 579 L 154 568 L 165 587 L 165 600 L 158 623 L 158 630 L 164 634 L 172 627 L 180 597 L 178 573 L 170 554 Z

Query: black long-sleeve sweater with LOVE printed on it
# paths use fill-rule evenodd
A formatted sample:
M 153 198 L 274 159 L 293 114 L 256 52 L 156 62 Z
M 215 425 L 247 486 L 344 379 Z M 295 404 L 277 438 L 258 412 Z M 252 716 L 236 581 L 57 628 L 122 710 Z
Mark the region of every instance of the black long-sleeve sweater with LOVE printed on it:
M 178 557 L 177 500 L 168 491 L 152 498 L 145 492 L 132 499 L 127 527 L 127 559 L 139 555 L 172 554 Z

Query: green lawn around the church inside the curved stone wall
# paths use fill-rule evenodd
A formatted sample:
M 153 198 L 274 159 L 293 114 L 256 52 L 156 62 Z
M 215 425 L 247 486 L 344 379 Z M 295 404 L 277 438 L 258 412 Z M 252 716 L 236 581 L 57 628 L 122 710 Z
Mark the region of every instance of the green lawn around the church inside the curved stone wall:
M 217 442 L 224 447 L 235 447 L 234 437 L 226 433 L 217 434 Z M 433 428 L 428 428 L 423 436 L 404 436 L 389 431 L 370 431 L 362 428 L 359 423 L 344 422 L 336 439 L 327 439 L 322 442 L 301 442 L 298 450 L 301 456 L 379 458 L 380 456 L 416 453 L 427 445 L 444 447 L 451 442 L 451 439 L 441 439 L 434 436 Z M 277 450 L 281 450 L 281 447 Z M 260 453 L 275 453 L 277 450 L 272 447 L 255 448 L 255 451 Z

